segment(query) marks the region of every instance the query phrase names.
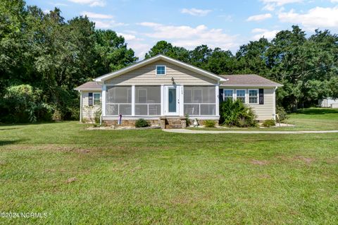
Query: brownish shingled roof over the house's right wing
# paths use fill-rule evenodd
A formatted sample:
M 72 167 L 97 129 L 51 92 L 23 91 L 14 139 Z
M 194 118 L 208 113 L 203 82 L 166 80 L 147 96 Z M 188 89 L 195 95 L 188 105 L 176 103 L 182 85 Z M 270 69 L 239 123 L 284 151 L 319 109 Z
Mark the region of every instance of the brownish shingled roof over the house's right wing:
M 282 87 L 280 83 L 276 83 L 267 78 L 263 78 L 256 74 L 238 74 L 238 75 L 221 75 L 227 78 L 227 82 L 222 83 L 222 86 L 259 86 L 259 87 Z

